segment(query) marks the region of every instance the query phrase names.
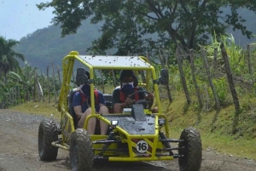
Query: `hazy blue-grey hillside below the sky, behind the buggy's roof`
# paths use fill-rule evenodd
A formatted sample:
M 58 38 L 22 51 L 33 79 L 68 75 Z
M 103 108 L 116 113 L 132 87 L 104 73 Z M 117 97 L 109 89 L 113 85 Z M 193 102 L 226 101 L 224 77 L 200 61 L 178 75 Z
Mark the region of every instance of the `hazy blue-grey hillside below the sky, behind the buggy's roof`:
M 91 25 L 89 20 L 84 20 L 77 34 L 67 37 L 61 37 L 59 26 L 49 26 L 22 37 L 15 50 L 24 54 L 26 60 L 33 67 L 46 71 L 46 67 L 50 66 L 51 63 L 61 66 L 63 57 L 72 50 L 85 54 L 91 41 L 100 36 L 97 31 L 100 26 L 100 24 Z

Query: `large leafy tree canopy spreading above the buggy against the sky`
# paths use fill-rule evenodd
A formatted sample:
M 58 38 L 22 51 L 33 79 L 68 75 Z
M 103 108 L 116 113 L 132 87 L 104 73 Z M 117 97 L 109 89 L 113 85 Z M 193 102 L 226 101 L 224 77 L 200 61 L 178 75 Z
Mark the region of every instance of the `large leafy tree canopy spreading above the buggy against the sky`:
M 103 21 L 102 37 L 90 50 L 118 48 L 117 54 L 179 43 L 188 51 L 198 43 L 207 43 L 214 31 L 224 35 L 229 26 L 249 38 L 252 32 L 243 26 L 246 20 L 237 9 L 256 11 L 253 0 L 53 0 L 38 4 L 38 9 L 49 7 L 54 8 L 52 22 L 61 24 L 62 37 L 76 33 L 82 20 L 90 18 L 92 24 Z

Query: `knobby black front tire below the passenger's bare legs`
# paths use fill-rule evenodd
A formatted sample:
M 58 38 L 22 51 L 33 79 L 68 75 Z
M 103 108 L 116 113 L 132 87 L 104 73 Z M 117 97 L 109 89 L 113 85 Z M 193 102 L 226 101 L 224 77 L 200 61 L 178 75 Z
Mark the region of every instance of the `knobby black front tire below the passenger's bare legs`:
M 85 129 L 77 128 L 71 135 L 69 157 L 73 171 L 92 170 L 94 152 Z

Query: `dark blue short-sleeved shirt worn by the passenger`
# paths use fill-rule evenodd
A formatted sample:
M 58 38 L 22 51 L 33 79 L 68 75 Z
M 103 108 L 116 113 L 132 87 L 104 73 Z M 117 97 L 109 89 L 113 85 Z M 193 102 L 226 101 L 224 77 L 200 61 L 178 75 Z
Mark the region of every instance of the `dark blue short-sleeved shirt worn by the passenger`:
M 84 91 L 84 86 L 83 86 L 82 90 L 83 90 L 83 92 L 87 92 L 87 93 L 89 92 L 89 91 Z M 95 107 L 96 107 L 96 112 L 99 112 L 99 110 L 100 110 L 100 105 L 99 104 L 104 104 L 105 105 L 105 99 L 104 99 L 104 96 L 103 96 L 101 91 L 99 91 L 99 90 L 96 90 L 96 91 L 98 92 L 98 103 L 95 104 Z M 85 93 L 85 97 L 88 99 L 88 104 L 90 105 L 90 94 Z M 96 96 L 94 98 L 96 100 Z M 86 103 L 86 101 L 84 103 L 82 103 L 82 96 L 81 96 L 80 91 L 76 92 L 73 95 L 73 107 L 81 105 L 82 112 L 84 112 L 89 108 L 88 104 Z

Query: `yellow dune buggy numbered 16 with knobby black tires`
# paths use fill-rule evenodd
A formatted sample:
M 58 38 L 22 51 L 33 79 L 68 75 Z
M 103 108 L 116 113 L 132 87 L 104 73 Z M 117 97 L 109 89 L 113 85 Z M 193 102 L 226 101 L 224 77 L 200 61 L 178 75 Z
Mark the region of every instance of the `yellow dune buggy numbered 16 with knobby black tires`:
M 160 104 L 159 84 L 168 84 L 166 69 L 157 78 L 154 66 L 143 56 L 93 56 L 70 52 L 63 59 L 63 81 L 58 110 L 61 111 L 60 127 L 54 121 L 44 120 L 38 128 L 38 151 L 42 161 L 52 161 L 58 149 L 69 151 L 72 170 L 91 170 L 95 160 L 109 162 L 139 162 L 173 160 L 177 158 L 181 171 L 198 171 L 201 168 L 201 135 L 195 128 L 184 128 L 179 139 L 169 138 L 169 126 Z M 73 92 L 73 70 L 85 67 L 90 72 L 90 97 L 95 101 L 94 88 L 97 71 L 133 70 L 138 85 L 154 91 L 154 105 L 158 113 L 152 113 L 152 101 L 138 100 L 122 113 L 92 114 L 87 117 L 84 128 L 76 128 L 70 100 Z M 144 81 L 139 77 L 145 75 Z M 82 79 L 83 80 L 83 79 Z M 143 93 L 148 94 L 148 91 Z M 104 94 L 109 111 L 112 111 L 112 94 Z M 146 105 L 145 105 L 146 104 Z M 147 105 L 151 104 L 151 105 Z M 108 123 L 108 134 L 88 134 L 88 120 L 96 117 Z M 174 144 L 174 145 L 173 145 Z

